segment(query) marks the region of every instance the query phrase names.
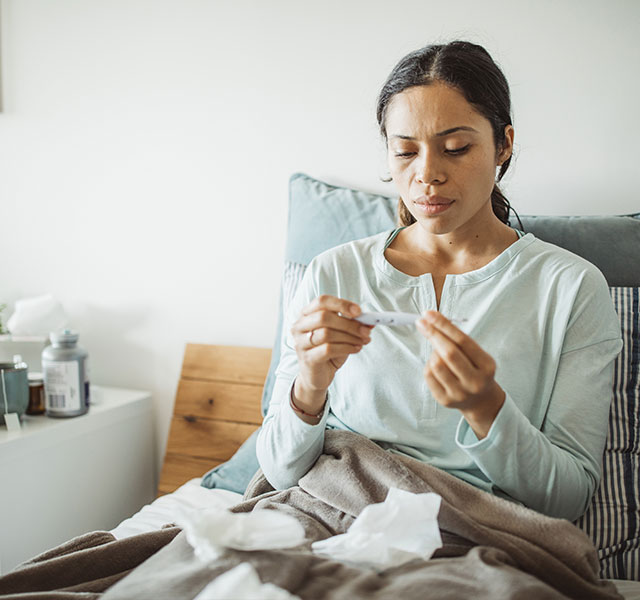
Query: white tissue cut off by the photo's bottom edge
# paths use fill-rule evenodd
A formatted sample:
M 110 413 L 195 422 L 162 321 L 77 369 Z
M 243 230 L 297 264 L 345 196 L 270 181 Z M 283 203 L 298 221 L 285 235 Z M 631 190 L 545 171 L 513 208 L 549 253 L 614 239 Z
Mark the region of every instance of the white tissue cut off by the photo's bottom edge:
M 300 600 L 273 583 L 262 583 L 249 563 L 241 563 L 216 577 L 193 600 Z

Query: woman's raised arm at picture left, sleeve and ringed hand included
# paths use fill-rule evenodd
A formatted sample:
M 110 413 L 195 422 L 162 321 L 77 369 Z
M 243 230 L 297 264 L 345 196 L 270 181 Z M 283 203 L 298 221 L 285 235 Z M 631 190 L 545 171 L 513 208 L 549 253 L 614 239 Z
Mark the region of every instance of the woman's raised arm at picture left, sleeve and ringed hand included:
M 257 439 L 258 462 L 276 489 L 296 485 L 322 453 L 329 386 L 349 355 L 370 341 L 371 328 L 341 316 L 357 316 L 359 306 L 327 295 L 309 300 L 316 293 L 311 271 L 289 311 L 269 411 Z

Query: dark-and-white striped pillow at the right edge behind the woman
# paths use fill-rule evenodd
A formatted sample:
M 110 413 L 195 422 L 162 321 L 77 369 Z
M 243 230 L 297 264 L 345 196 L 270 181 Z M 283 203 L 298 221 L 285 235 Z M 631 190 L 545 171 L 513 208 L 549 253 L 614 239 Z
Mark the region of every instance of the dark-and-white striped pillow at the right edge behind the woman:
M 600 576 L 640 580 L 640 288 L 614 287 L 623 348 L 614 368 L 602 481 L 576 525 L 598 549 Z

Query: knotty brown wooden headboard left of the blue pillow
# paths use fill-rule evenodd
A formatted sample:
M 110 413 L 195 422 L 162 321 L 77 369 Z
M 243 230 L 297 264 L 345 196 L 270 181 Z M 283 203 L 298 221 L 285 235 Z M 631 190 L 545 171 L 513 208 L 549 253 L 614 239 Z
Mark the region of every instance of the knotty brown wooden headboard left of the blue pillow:
M 262 423 L 271 349 L 187 344 L 158 495 L 231 458 Z

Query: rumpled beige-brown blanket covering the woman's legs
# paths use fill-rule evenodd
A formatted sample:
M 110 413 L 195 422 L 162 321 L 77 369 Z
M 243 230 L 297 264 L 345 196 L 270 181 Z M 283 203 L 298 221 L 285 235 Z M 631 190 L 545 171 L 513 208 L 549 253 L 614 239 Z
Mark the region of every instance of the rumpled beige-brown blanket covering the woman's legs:
M 365 506 L 386 498 L 389 487 L 442 496 L 438 522 L 444 546 L 431 560 L 418 559 L 378 573 L 311 553 L 312 541 L 347 531 Z M 303 599 L 621 598 L 613 584 L 598 579 L 592 543 L 568 521 L 544 517 L 494 497 L 433 467 L 390 454 L 352 433 L 327 432 L 324 454 L 299 486 L 276 492 L 258 474 L 245 498 L 235 511 L 260 507 L 294 515 L 305 528 L 307 543 L 290 550 L 229 551 L 215 562 L 202 564 L 184 534 L 173 538 L 175 530 L 164 530 L 155 534 L 164 535 L 167 542 L 171 539 L 170 543 L 147 560 L 153 546 L 147 536 L 153 534 L 130 541 L 146 543 L 147 554 L 128 574 L 125 567 L 131 561 L 112 567 L 110 574 L 101 573 L 96 566 L 92 581 L 85 578 L 85 583 L 66 591 L 49 587 L 58 590 L 56 595 L 13 597 L 191 599 L 217 575 L 248 561 L 263 582 L 272 582 Z M 103 549 L 101 560 L 117 554 L 126 541 L 108 542 L 112 550 L 105 553 Z M 156 537 L 156 545 L 158 541 Z M 72 556 L 67 554 L 66 558 Z M 47 560 L 40 561 L 40 567 Z M 0 578 L 0 594 L 6 590 L 3 581 L 11 575 Z M 56 579 L 58 575 L 50 569 L 49 577 Z M 111 580 L 101 585 L 105 577 Z M 113 584 L 114 580 L 118 582 Z M 11 591 L 18 592 L 15 580 L 13 584 Z M 90 594 L 80 596 L 81 591 Z

